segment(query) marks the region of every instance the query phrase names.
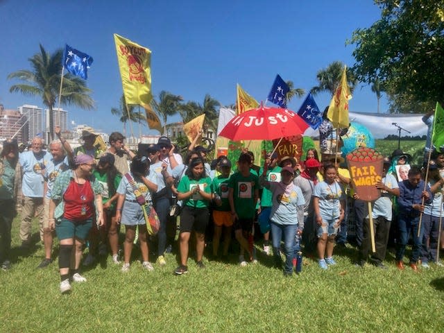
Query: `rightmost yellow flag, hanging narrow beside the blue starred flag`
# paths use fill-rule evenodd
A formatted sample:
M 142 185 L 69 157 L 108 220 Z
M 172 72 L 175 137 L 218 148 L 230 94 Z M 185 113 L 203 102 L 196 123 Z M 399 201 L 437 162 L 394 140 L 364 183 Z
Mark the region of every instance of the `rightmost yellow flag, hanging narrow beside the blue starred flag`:
M 350 88 L 347 84 L 347 67 L 344 66 L 341 84 L 334 92 L 330 106 L 328 107 L 327 117 L 333 123 L 334 128 L 345 128 L 350 125 L 348 119 L 348 100 L 352 99 Z

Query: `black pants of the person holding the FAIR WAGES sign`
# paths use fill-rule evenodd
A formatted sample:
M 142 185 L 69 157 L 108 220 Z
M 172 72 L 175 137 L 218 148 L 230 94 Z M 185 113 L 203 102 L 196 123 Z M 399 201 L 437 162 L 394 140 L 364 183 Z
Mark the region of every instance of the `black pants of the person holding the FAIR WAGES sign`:
M 391 221 L 388 221 L 383 216 L 373 219 L 373 229 L 375 230 L 375 249 L 372 251 L 372 242 L 370 238 L 370 219 L 364 219 L 362 244 L 359 248 L 359 259 L 361 262 L 366 262 L 368 254 L 370 253 L 370 262 L 373 264 L 380 264 L 386 257 L 388 233 L 390 231 Z

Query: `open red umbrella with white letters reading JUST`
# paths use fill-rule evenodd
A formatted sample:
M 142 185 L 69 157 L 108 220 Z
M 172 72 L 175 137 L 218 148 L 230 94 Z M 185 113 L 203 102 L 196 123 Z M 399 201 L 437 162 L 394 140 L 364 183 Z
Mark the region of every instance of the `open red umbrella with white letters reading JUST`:
M 261 105 L 231 119 L 219 135 L 233 141 L 273 140 L 302 135 L 307 128 L 307 123 L 295 112 Z

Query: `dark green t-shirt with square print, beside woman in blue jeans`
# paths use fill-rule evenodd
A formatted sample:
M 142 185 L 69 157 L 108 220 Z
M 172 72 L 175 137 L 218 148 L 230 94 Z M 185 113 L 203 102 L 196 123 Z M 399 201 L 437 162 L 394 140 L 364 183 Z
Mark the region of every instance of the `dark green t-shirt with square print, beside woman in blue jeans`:
M 255 191 L 259 189 L 259 178 L 252 173 L 244 177 L 234 173 L 228 182 L 233 189 L 234 210 L 239 219 L 253 219 L 256 212 Z

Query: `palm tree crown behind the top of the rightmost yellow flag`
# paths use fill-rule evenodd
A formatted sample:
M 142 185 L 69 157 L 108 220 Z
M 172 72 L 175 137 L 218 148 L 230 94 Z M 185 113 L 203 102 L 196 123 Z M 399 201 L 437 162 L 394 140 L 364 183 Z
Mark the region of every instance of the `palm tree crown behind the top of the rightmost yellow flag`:
M 330 92 L 333 96 L 339 83 L 341 83 L 341 76 L 344 69 L 344 64 L 340 61 L 334 61 L 327 66 L 326 69 L 321 69 L 316 74 L 316 79 L 319 85 L 311 88 L 311 93 L 316 95 L 319 92 Z M 350 92 L 353 92 L 357 80 L 352 69 L 347 68 L 347 83 L 350 87 Z

